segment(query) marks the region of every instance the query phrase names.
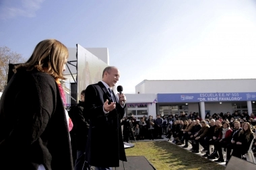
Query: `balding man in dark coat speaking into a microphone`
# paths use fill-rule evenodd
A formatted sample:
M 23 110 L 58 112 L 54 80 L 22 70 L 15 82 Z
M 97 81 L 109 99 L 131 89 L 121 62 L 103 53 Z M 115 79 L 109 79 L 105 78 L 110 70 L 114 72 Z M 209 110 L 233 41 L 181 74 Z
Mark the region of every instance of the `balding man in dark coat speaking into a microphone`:
M 96 170 L 119 167 L 119 160 L 127 161 L 121 132 L 126 98 L 123 93 L 116 97 L 111 89 L 119 76 L 116 67 L 106 67 L 102 81 L 86 88 L 84 115 L 90 119 L 86 161 Z

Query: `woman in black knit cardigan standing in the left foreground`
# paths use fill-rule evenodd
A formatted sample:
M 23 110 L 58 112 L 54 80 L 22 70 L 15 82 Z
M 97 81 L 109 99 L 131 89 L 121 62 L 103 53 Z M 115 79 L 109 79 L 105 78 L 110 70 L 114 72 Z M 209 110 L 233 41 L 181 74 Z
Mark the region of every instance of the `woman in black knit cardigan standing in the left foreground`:
M 42 40 L 28 61 L 15 67 L 0 101 L 0 169 L 73 169 L 57 83 L 64 79 L 68 54 L 61 42 Z

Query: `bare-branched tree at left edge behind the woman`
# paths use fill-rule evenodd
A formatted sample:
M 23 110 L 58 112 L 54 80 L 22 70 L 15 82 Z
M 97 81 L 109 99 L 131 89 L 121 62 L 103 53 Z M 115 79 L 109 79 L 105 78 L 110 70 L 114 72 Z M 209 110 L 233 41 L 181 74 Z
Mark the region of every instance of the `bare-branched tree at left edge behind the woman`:
M 25 62 L 22 54 L 11 51 L 7 46 L 0 46 L 0 91 L 7 85 L 9 63 L 18 64 Z

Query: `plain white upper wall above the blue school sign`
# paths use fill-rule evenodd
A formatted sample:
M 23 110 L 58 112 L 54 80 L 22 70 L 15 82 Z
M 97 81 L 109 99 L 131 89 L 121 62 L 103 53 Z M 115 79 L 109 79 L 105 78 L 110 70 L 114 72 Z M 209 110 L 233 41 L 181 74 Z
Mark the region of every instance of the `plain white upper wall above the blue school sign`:
M 256 79 L 144 80 L 135 87 L 135 93 L 255 92 L 255 84 Z

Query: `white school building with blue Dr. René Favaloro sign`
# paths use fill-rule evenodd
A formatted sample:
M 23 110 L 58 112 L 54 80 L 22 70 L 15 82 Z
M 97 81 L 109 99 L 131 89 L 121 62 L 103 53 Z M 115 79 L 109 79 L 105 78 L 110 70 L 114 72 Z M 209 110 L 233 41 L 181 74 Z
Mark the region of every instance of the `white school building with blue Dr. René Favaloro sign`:
M 168 116 L 180 112 L 256 113 L 256 79 L 143 80 L 127 97 L 127 114 Z

